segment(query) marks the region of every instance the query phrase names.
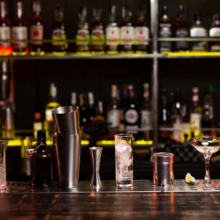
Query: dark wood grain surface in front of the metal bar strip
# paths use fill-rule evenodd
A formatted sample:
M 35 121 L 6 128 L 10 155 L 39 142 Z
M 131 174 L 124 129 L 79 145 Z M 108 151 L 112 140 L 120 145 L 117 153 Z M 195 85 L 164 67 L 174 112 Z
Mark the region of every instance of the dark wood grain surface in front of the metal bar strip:
M 0 219 L 220 219 L 220 193 L 1 194 Z

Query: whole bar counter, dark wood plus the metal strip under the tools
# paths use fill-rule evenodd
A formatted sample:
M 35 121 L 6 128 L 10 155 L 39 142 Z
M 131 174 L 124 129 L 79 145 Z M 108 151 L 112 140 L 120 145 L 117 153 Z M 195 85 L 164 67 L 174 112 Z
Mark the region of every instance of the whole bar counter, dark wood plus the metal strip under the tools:
M 184 180 L 164 192 L 150 180 L 134 181 L 131 191 L 116 190 L 115 181 L 103 181 L 102 190 L 89 181 L 71 190 L 11 182 L 0 194 L 0 219 L 220 219 L 220 190 L 196 190 Z

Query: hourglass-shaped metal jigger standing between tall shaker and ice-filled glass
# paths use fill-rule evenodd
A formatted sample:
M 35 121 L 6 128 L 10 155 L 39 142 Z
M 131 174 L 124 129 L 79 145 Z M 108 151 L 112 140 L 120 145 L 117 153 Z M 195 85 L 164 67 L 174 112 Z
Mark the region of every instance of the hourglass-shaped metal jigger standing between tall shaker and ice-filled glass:
M 99 187 L 102 185 L 99 175 L 102 147 L 90 147 L 89 151 L 90 151 L 90 156 L 92 160 L 92 169 L 93 169 L 90 186 Z

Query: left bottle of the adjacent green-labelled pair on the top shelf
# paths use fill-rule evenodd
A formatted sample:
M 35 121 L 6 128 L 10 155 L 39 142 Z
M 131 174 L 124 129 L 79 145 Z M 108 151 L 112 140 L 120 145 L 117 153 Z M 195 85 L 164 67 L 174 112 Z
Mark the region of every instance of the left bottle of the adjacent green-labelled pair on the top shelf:
M 90 34 L 89 24 L 87 22 L 87 7 L 80 7 L 79 10 L 79 22 L 76 33 L 76 53 L 77 54 L 89 54 Z

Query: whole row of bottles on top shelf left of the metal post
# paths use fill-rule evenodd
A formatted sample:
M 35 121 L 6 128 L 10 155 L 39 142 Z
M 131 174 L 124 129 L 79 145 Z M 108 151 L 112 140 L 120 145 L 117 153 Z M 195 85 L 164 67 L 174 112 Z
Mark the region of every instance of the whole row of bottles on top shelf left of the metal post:
M 16 20 L 12 23 L 7 18 L 5 2 L 0 2 L 0 55 L 44 55 L 45 24 L 41 15 L 40 1 L 33 2 L 34 16 L 28 25 L 23 18 L 22 2 L 17 2 Z M 77 54 L 146 53 L 149 45 L 149 27 L 146 22 L 146 10 L 141 6 L 137 22 L 131 21 L 129 6 L 122 8 L 122 22 L 116 21 L 116 6 L 109 8 L 109 19 L 104 25 L 102 8 L 94 7 L 93 22 L 87 20 L 87 7 L 79 10 L 79 21 L 75 40 Z M 28 28 L 30 47 L 28 47 Z M 67 52 L 67 29 L 64 23 L 63 8 L 60 4 L 55 9 L 55 21 L 52 25 L 52 52 L 65 55 Z M 50 41 L 49 41 L 50 42 Z M 74 42 L 74 41 L 73 41 Z

